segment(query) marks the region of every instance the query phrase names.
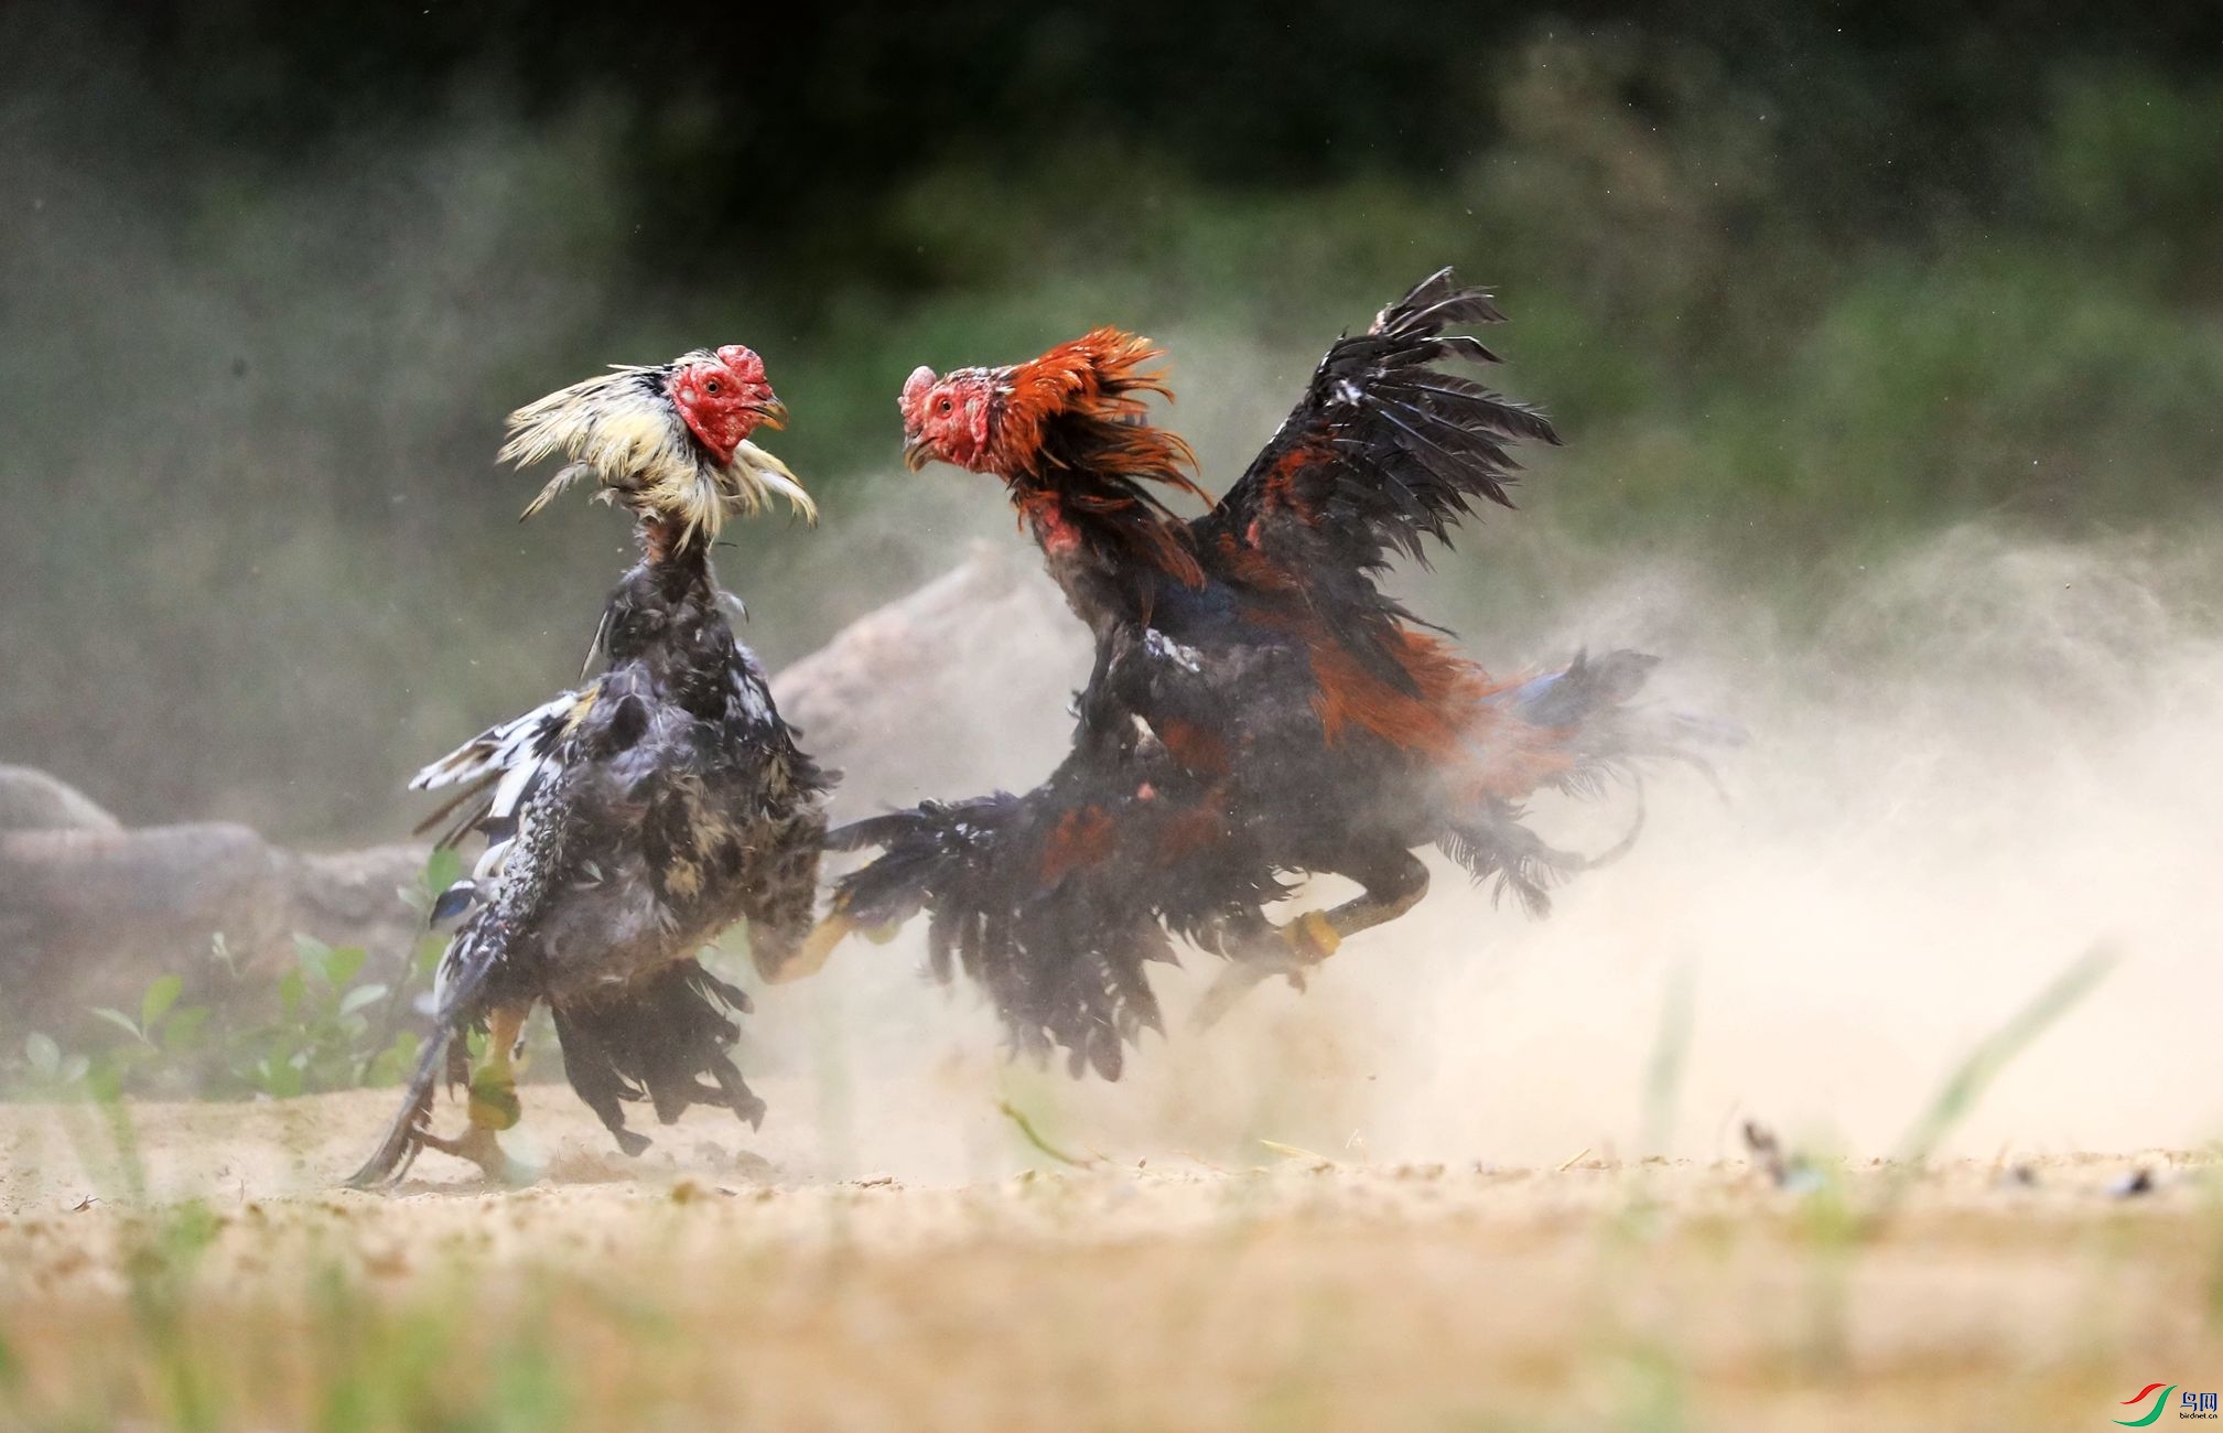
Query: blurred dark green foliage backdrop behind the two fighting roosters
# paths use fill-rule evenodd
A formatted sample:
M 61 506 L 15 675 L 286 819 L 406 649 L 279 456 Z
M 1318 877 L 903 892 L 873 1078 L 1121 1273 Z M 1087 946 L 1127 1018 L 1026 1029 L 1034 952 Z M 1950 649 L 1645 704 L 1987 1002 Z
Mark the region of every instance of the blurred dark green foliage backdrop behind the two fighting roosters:
M 1965 520 L 2212 524 L 2216 11 L 2007 11 L 867 7 L 687 53 L 607 7 L 31 29 L 0 753 L 131 820 L 393 833 L 409 769 L 576 671 L 625 560 L 585 504 L 514 527 L 520 400 L 767 355 L 827 509 L 722 558 L 778 664 L 1007 538 L 978 482 L 894 475 L 909 367 L 1149 331 L 1216 489 L 1443 262 L 1498 284 L 1503 382 L 1569 438 L 1523 531 L 1772 598 Z

